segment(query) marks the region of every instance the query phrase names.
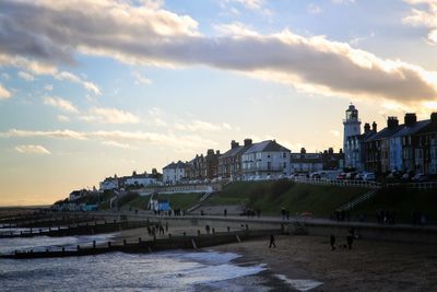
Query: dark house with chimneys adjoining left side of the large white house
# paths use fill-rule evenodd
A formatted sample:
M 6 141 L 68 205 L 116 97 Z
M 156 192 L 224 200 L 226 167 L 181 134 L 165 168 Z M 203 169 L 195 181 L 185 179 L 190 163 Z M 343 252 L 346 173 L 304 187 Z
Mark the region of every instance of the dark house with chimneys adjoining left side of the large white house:
M 218 177 L 239 179 L 241 177 L 243 153 L 252 145 L 251 139 L 245 139 L 244 145 L 231 141 L 231 149 L 218 157 Z

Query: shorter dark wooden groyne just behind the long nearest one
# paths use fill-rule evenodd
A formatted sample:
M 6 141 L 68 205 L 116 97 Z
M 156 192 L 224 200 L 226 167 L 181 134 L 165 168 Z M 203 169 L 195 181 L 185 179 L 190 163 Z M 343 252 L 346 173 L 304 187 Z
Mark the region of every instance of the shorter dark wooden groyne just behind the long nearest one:
M 10 232 L 0 235 L 0 238 L 11 238 L 11 237 L 34 237 L 34 236 L 73 236 L 73 235 L 92 235 L 99 233 L 110 233 L 129 229 L 146 227 L 150 225 L 149 221 L 117 221 L 113 222 L 92 222 L 92 223 L 79 223 L 67 226 L 57 226 L 45 229 L 29 229 L 26 231 L 21 231 L 20 233 Z

